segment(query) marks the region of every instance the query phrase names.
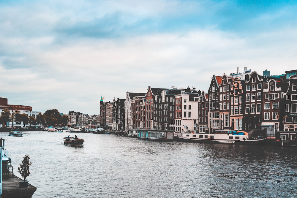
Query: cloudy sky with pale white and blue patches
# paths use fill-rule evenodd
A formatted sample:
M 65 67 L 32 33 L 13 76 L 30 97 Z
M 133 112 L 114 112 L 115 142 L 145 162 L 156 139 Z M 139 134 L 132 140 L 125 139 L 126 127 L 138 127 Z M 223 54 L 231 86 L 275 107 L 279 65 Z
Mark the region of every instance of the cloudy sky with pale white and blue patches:
M 0 97 L 100 113 L 154 88 L 297 69 L 296 1 L 0 1 Z

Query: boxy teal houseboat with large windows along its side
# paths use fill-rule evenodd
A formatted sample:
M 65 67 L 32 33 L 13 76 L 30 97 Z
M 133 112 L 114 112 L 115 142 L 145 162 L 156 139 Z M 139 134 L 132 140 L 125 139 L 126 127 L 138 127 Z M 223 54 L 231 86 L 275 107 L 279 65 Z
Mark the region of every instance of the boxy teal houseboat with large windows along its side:
M 155 140 L 160 142 L 173 141 L 172 130 L 135 129 L 138 139 Z

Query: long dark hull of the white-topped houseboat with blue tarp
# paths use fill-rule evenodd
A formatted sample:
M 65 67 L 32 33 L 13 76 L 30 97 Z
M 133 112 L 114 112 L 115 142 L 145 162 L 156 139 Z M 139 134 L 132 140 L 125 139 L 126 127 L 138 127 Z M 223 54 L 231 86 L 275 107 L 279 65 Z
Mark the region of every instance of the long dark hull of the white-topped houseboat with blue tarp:
M 193 143 L 210 143 L 210 144 L 239 144 L 239 145 L 259 145 L 265 144 L 267 138 L 255 139 L 255 140 L 205 140 L 205 139 L 194 139 L 186 137 L 174 137 L 174 140 L 178 142 L 193 142 Z M 232 143 L 231 143 L 232 142 Z

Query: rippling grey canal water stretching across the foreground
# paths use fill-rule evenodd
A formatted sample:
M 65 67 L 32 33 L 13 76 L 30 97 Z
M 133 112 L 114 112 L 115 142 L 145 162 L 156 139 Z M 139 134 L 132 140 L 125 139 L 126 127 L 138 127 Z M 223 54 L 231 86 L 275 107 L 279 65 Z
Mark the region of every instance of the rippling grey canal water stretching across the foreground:
M 153 142 L 113 134 L 1 133 L 33 197 L 296 197 L 295 147 Z M 81 148 L 64 145 L 77 135 Z

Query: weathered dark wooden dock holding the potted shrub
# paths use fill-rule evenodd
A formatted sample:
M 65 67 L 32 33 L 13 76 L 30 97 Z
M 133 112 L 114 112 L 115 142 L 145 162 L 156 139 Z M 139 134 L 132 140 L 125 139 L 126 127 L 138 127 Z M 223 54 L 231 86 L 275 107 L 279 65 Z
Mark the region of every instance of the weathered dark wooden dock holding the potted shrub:
M 36 187 L 28 184 L 28 188 L 20 188 L 19 181 L 23 180 L 12 173 L 2 175 L 2 194 L 1 198 L 29 198 L 36 191 Z

